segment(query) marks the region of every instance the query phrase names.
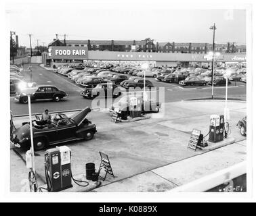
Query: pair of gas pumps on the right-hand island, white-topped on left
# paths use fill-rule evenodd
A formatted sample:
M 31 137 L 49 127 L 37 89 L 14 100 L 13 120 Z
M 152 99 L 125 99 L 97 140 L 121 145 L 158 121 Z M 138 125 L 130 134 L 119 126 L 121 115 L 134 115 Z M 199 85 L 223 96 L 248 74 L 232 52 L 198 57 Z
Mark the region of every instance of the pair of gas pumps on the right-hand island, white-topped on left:
M 211 115 L 209 142 L 220 142 L 223 140 L 224 115 Z

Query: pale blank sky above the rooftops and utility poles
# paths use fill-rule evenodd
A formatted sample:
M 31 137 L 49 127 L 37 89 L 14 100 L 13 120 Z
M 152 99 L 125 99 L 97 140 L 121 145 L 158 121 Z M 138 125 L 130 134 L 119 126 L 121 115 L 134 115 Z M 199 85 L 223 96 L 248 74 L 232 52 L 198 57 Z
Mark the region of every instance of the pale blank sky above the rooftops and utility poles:
M 13 2 L 13 3 L 12 3 Z M 145 1 L 144 1 L 145 2 Z M 196 7 L 197 8 L 197 7 Z M 9 30 L 19 36 L 19 44 L 29 47 L 49 44 L 56 38 L 81 40 L 143 40 L 158 42 L 246 43 L 244 9 L 194 9 L 170 3 L 122 1 L 11 1 L 5 5 Z M 8 31 L 9 32 L 9 31 Z

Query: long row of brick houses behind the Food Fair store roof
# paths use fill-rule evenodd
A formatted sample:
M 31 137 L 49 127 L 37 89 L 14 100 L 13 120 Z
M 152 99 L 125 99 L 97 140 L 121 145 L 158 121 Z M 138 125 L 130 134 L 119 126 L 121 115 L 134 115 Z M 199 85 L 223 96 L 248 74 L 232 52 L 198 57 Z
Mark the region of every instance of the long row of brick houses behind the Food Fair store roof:
M 149 38 L 142 41 L 94 41 L 94 40 L 54 40 L 50 46 L 88 47 L 93 51 L 143 51 L 157 53 L 208 53 L 213 50 L 209 43 L 154 43 Z M 245 53 L 246 46 L 233 44 L 215 44 L 215 51 L 219 53 Z

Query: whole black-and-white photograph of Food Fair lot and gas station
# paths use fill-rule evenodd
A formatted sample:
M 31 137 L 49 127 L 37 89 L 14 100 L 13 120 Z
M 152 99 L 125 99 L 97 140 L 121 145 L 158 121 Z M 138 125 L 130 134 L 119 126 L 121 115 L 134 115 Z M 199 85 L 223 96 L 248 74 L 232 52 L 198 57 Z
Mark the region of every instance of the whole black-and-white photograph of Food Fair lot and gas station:
M 7 190 L 251 192 L 251 15 L 7 1 Z

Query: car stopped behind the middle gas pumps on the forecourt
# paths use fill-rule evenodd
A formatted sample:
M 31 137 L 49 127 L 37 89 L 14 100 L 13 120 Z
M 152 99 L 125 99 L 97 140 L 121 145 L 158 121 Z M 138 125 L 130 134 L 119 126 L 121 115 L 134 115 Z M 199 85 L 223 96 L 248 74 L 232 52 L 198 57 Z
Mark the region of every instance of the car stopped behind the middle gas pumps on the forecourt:
M 137 99 L 142 99 L 142 113 L 146 113 L 146 112 L 154 112 L 154 113 L 158 113 L 160 108 L 161 108 L 161 103 L 159 103 L 158 101 L 154 100 L 154 99 L 148 99 L 144 101 L 143 97 L 139 98 L 138 96 L 134 96 L 134 95 L 130 95 L 130 94 L 126 94 L 123 97 L 121 97 L 119 99 L 119 101 L 117 101 L 116 103 L 113 103 L 113 105 L 110 107 L 109 111 L 115 111 L 115 110 L 119 110 L 121 111 L 121 116 L 122 119 L 127 119 L 128 115 L 129 115 L 129 101 L 131 99 L 131 97 L 137 97 Z M 146 110 L 144 110 L 144 103 L 145 103 L 145 108 Z

